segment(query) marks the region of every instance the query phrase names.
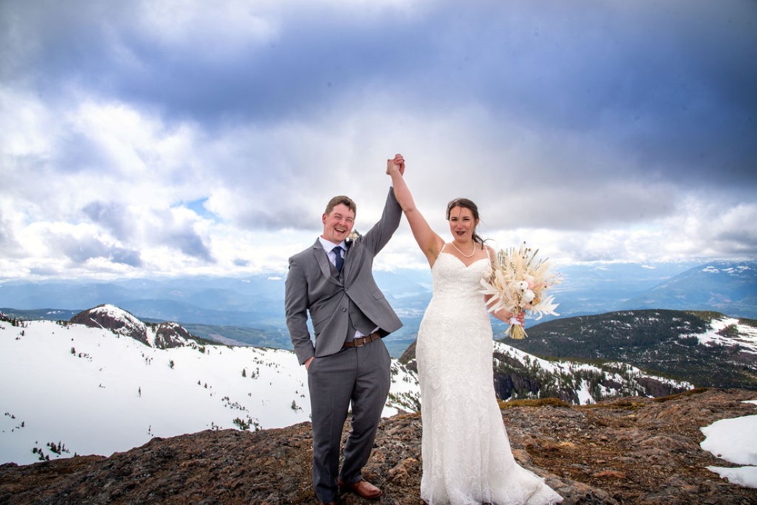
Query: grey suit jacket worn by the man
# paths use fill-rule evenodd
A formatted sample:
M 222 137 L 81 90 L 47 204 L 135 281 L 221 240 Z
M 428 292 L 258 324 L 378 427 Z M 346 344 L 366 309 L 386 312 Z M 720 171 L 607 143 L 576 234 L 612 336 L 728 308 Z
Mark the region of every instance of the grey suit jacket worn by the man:
M 328 356 L 341 349 L 347 336 L 350 300 L 385 332 L 402 327 L 372 273 L 373 258 L 397 230 L 401 217 L 402 209 L 390 189 L 382 218 L 363 237 L 349 243 L 341 280 L 332 277 L 329 258 L 319 240 L 289 259 L 284 300 L 286 322 L 300 363 L 311 356 Z M 315 332 L 314 343 L 307 327 L 308 311 Z

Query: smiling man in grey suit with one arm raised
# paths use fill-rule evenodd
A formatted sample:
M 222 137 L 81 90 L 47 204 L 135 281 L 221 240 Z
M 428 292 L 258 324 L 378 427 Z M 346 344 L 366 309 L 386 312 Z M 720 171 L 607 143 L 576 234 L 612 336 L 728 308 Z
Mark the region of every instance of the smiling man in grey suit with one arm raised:
M 400 154 L 387 160 L 404 171 Z M 313 488 L 321 503 L 336 503 L 338 489 L 376 499 L 382 491 L 363 479 L 390 385 L 391 358 L 382 337 L 402 327 L 373 279 L 375 255 L 400 225 L 402 209 L 390 189 L 381 219 L 347 240 L 356 206 L 334 197 L 322 215 L 323 234 L 289 259 L 285 310 L 289 336 L 307 367 L 313 421 Z M 307 328 L 307 313 L 315 333 Z M 339 471 L 341 432 L 352 423 Z

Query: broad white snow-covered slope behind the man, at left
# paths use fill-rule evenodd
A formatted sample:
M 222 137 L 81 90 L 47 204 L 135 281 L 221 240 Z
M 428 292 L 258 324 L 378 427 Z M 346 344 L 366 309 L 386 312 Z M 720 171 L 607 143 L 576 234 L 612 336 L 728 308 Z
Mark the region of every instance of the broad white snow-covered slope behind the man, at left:
M 145 339 L 101 324 L 0 321 L 0 463 L 107 456 L 156 436 L 310 420 L 307 371 L 293 352 L 192 339 L 160 349 L 161 325 L 103 310 Z M 415 374 L 393 361 L 383 415 L 418 405 Z

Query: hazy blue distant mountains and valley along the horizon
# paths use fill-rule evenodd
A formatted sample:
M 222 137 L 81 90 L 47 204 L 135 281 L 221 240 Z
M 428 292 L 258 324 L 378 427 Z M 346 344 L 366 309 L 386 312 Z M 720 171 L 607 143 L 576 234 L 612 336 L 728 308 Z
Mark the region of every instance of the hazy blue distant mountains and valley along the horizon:
M 603 263 L 556 270 L 563 279 L 553 289 L 560 318 L 637 308 L 757 318 L 757 262 Z M 283 308 L 285 276 L 5 280 L 0 281 L 0 308 L 23 318 L 50 318 L 58 312 L 67 320 L 83 309 L 110 303 L 144 321 L 179 322 L 196 336 L 291 349 Z M 399 357 L 416 338 L 431 299 L 431 275 L 398 269 L 377 271 L 375 277 L 404 324 L 386 339 L 391 355 Z M 494 324 L 497 331 L 504 330 L 498 321 Z

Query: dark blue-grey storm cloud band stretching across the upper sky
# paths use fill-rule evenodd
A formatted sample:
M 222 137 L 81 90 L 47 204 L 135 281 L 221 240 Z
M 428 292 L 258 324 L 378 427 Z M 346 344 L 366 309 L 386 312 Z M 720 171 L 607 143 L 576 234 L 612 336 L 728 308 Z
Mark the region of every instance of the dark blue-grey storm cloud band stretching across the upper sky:
M 419 113 L 475 103 L 585 132 L 656 178 L 757 181 L 755 2 L 439 2 L 357 22 L 304 8 L 276 14 L 269 40 L 227 47 L 218 33 L 217 48 L 145 33 L 126 6 L 48 7 L 65 23 L 37 26 L 44 94 L 76 82 L 209 126 L 302 119 L 382 88 Z

